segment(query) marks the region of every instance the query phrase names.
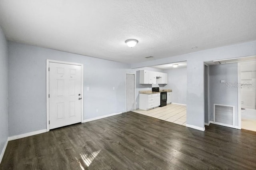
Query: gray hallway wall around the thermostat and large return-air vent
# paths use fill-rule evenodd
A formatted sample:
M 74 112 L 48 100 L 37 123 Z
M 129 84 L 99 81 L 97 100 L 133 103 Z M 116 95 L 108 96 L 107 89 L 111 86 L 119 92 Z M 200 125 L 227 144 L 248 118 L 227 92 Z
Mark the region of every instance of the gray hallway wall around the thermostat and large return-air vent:
M 210 65 L 210 121 L 213 121 L 213 104 L 235 106 L 235 126 L 238 126 L 238 92 L 237 88 L 227 88 L 226 83 L 237 83 L 237 63 Z M 220 83 L 226 80 L 226 83 Z

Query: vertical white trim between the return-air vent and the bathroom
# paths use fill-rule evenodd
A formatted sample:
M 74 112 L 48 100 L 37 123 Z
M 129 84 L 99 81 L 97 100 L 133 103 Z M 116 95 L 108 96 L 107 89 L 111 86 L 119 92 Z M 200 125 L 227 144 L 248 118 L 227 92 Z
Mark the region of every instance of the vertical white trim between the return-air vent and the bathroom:
M 241 65 L 237 63 L 237 83 L 241 83 Z M 238 129 L 242 129 L 241 88 L 237 88 Z

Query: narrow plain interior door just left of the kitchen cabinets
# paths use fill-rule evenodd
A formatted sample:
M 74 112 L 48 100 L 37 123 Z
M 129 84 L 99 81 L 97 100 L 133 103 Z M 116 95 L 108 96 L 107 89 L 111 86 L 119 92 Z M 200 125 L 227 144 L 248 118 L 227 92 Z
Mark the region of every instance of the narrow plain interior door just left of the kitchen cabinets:
M 135 110 L 135 74 L 126 73 L 126 112 Z

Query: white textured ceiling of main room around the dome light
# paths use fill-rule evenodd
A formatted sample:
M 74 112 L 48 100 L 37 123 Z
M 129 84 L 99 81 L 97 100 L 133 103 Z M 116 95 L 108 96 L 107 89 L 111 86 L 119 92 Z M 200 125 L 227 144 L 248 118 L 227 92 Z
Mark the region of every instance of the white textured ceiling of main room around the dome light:
M 11 41 L 136 63 L 256 40 L 256 0 L 0 0 L 0 26 Z

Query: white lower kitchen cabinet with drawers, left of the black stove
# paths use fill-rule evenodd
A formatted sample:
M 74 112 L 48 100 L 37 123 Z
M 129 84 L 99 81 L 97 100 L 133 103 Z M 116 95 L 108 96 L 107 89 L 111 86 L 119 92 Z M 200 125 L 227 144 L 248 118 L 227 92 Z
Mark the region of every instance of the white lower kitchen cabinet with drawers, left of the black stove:
M 160 105 L 160 93 L 150 95 L 140 93 L 139 97 L 139 109 L 147 111 Z

